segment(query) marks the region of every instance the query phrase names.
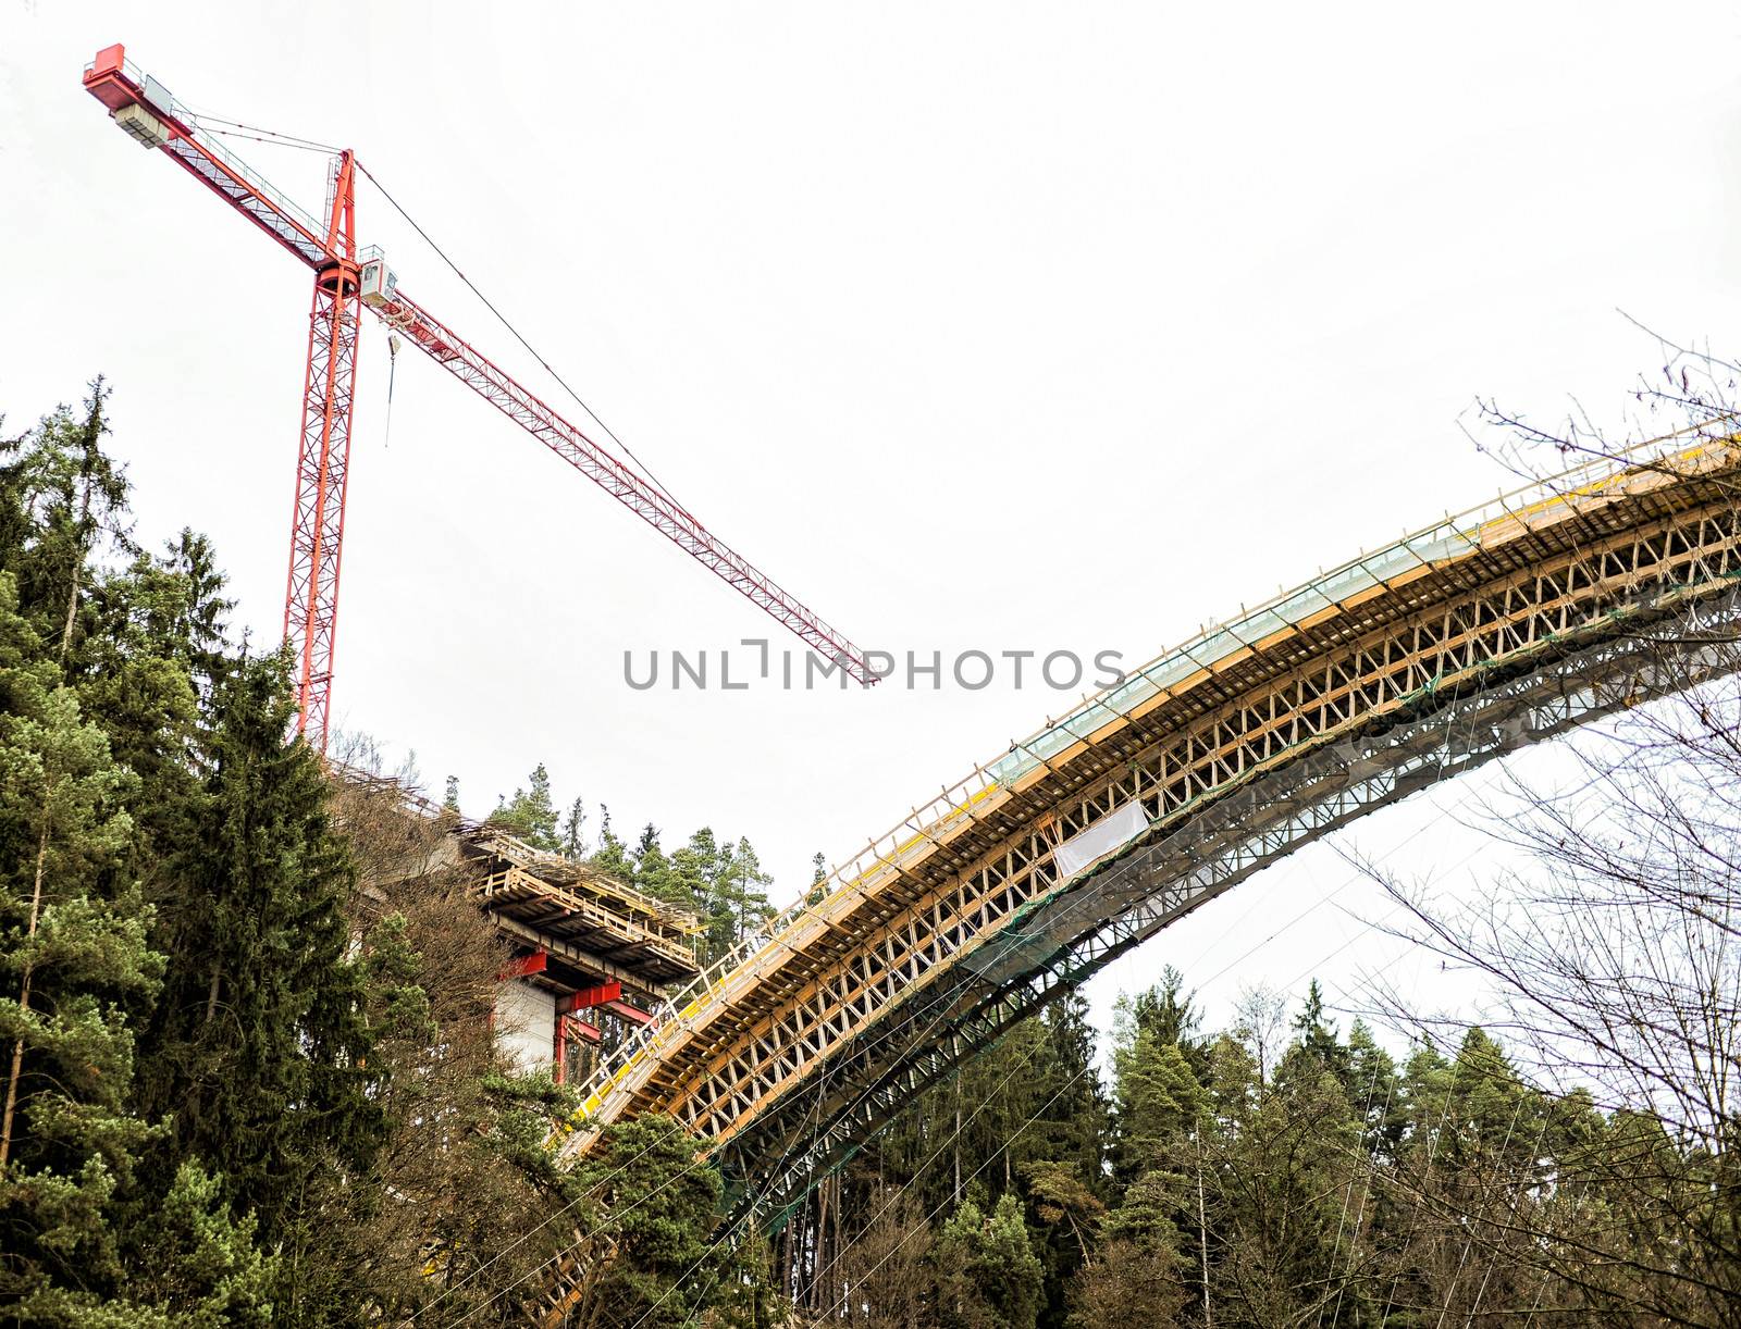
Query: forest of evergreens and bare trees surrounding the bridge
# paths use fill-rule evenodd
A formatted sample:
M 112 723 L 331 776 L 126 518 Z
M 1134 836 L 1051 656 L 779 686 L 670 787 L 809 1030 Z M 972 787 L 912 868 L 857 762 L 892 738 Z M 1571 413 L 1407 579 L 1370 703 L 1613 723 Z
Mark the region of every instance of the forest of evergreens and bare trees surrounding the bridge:
M 286 738 L 209 541 L 134 529 L 108 393 L 0 430 L 0 1324 L 524 1326 L 564 1261 L 575 1329 L 1741 1324 L 1732 682 L 1518 790 L 1525 866 L 1459 912 L 1370 868 L 1483 1025 L 1071 993 L 723 1226 L 669 1119 L 552 1165 L 573 1094 L 493 1045 L 467 882 L 380 872 L 402 830 Z M 703 960 L 778 894 L 747 835 L 622 838 L 543 765 L 487 816 L 693 908 Z

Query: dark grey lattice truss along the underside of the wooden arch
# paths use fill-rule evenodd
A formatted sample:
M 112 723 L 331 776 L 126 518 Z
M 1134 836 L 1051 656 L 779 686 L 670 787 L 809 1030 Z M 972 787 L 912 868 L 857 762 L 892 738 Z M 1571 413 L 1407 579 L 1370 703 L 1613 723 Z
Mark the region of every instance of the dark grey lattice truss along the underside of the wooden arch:
M 1675 597 L 1678 600 L 1678 597 Z M 1381 807 L 1518 748 L 1734 670 L 1741 590 L 1657 618 L 1661 637 L 1612 638 L 1509 682 L 1449 696 L 1382 738 L 1349 739 L 1255 781 L 1172 835 L 1059 892 L 947 981 L 837 1049 L 815 1085 L 723 1150 L 729 1221 L 778 1226 L 904 1105 L 1074 988 L 1252 873 Z M 1717 642 L 1713 645 L 1713 642 Z

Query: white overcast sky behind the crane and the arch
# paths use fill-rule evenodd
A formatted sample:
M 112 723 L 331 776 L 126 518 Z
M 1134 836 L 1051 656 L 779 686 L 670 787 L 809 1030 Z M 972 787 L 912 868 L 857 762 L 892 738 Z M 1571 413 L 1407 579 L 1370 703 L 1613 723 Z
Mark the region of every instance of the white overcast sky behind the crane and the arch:
M 1732 3 L 0 0 L 0 411 L 108 374 L 139 531 L 209 532 L 275 638 L 308 275 L 104 122 L 78 73 L 122 40 L 200 111 L 357 148 L 686 506 L 860 645 L 1139 663 L 1509 487 L 1457 430 L 1476 393 L 1617 419 L 1656 351 L 1616 308 L 1736 344 L 1738 37 Z M 319 157 L 235 148 L 319 207 Z M 359 212 L 411 294 L 529 369 L 385 200 Z M 336 713 L 468 811 L 543 760 L 625 835 L 749 835 L 783 899 L 815 849 L 1072 699 L 630 691 L 625 649 L 773 624 L 409 353 L 388 445 L 385 341 Z M 1353 844 L 1466 880 L 1480 842 L 1438 809 L 1468 797 Z M 1429 990 L 1365 885 L 1309 910 L 1349 875 L 1295 856 L 1114 965 L 1097 1009 L 1168 960 L 1212 1019 L 1313 971 Z

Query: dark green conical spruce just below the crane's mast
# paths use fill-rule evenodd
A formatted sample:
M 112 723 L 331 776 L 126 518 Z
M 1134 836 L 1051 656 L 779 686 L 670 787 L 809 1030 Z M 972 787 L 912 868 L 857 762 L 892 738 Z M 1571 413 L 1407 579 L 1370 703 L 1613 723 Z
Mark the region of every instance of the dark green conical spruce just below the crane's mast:
M 172 1124 L 169 1174 L 204 1159 L 261 1237 L 294 1249 L 320 1223 L 317 1179 L 364 1172 L 381 1124 L 343 915 L 352 866 L 319 758 L 284 738 L 289 698 L 284 656 L 239 663 L 212 696 L 139 1101 Z

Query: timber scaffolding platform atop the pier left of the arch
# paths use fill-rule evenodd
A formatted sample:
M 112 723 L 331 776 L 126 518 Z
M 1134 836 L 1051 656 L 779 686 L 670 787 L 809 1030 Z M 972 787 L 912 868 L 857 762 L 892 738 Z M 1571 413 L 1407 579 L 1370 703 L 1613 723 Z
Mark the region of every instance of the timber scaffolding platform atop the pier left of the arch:
M 568 992 L 620 983 L 651 1005 L 672 985 L 700 974 L 695 952 L 702 922 L 693 910 L 460 816 L 392 776 L 334 760 L 327 769 L 350 788 L 392 798 L 400 816 L 440 828 L 442 852 L 432 866 L 472 877 L 472 894 L 521 960 L 543 957 L 541 967 L 522 965 L 517 976 Z

